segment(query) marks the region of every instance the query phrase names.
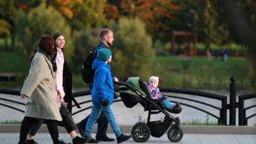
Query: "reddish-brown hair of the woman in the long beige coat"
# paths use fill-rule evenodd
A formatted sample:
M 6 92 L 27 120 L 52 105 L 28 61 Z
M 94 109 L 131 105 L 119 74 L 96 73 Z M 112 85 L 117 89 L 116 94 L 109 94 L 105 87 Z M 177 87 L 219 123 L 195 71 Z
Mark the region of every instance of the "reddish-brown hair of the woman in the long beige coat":
M 49 36 L 41 37 L 37 42 L 37 46 L 39 46 L 39 48 L 41 48 L 44 52 L 46 52 L 49 55 L 55 54 L 53 50 L 54 40 L 52 37 L 49 37 Z

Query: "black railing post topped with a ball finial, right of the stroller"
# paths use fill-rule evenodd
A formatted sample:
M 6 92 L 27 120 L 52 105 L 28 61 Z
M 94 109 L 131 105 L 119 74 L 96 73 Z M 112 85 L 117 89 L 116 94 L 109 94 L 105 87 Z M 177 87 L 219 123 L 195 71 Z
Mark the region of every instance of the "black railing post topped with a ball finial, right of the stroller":
M 236 77 L 230 77 L 229 125 L 236 126 Z

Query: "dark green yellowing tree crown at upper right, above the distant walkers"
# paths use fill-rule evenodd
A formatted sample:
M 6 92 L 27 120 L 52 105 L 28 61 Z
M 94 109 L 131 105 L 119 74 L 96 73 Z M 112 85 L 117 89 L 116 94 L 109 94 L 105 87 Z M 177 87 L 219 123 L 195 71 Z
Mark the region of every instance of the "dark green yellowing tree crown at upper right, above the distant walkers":
M 180 18 L 189 30 L 198 33 L 198 41 L 221 45 L 229 40 L 229 28 L 216 0 L 175 1 L 182 7 Z

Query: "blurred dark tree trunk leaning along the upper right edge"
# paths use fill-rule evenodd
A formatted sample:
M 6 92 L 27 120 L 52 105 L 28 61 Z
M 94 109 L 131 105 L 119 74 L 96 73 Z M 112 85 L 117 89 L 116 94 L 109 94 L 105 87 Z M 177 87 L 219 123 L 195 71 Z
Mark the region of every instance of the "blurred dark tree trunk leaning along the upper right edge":
M 240 37 L 242 43 L 247 46 L 247 59 L 251 72 L 249 75 L 251 77 L 253 89 L 256 90 L 256 50 L 255 50 L 255 36 L 256 27 L 253 22 L 246 16 L 245 10 L 242 7 L 238 7 L 236 0 L 218 0 L 219 6 L 223 10 L 224 16 L 231 27 L 232 31 Z

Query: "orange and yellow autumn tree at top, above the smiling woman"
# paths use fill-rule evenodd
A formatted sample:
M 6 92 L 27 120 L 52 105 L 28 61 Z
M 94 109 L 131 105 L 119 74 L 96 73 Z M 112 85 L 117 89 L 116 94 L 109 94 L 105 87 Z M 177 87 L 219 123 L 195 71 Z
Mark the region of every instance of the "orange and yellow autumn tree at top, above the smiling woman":
M 56 0 L 47 1 L 47 5 L 53 6 L 66 18 L 72 32 L 84 29 L 87 24 L 92 27 L 106 24 L 106 0 Z

